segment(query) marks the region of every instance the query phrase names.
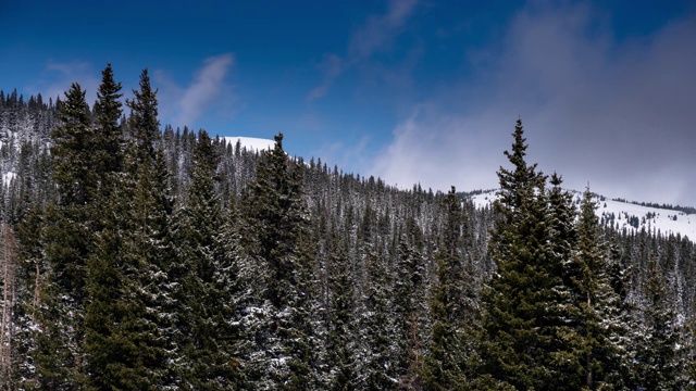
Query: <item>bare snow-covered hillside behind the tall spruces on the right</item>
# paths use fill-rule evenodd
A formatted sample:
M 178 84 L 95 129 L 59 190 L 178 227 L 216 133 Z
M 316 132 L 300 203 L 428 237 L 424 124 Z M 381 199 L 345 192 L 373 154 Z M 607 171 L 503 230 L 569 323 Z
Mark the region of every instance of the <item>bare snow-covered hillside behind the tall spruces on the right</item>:
M 582 193 L 571 191 L 574 194 L 576 204 L 580 204 Z M 471 195 L 474 204 L 478 207 L 489 205 L 496 198 L 496 190 L 487 190 L 480 194 Z M 694 240 L 696 238 L 696 214 L 687 214 L 685 212 L 650 207 L 609 200 L 601 195 L 595 198 L 597 206 L 597 217 L 605 226 L 612 226 L 619 230 L 639 231 L 642 229 L 649 231 L 659 231 L 662 235 L 681 235 Z

